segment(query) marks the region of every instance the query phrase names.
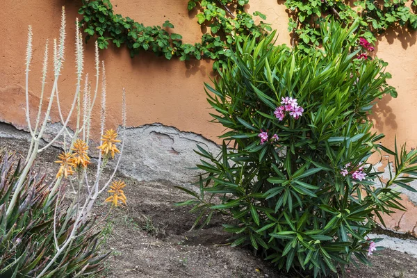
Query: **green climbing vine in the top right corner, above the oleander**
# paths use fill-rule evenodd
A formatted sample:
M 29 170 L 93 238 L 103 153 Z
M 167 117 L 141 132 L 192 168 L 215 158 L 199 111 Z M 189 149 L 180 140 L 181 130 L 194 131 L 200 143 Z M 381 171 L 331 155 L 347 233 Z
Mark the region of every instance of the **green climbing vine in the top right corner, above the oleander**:
M 327 15 L 343 24 L 358 21 L 360 35 L 369 42 L 375 42 L 377 35 L 392 26 L 417 29 L 417 0 L 411 2 L 411 7 L 403 0 L 359 0 L 353 6 L 341 0 L 286 0 L 285 5 L 291 15 L 288 31 L 293 32 L 293 42 L 297 41 L 306 52 L 320 44 L 319 26 Z

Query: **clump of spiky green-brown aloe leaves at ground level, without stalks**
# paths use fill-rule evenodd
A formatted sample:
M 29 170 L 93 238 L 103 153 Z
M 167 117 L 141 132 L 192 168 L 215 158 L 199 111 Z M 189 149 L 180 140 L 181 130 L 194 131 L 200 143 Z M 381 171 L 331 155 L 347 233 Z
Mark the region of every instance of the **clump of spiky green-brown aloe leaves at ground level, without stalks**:
M 6 208 L 22 174 L 20 161 L 0 154 L 0 277 L 36 277 L 56 254 L 56 240 L 62 243 L 70 234 L 74 218 L 58 193 L 48 200 L 51 187 L 40 173 L 32 172 L 24 181 L 17 203 L 10 215 Z M 65 190 L 65 188 L 63 188 Z M 60 217 L 54 223 L 54 213 Z M 79 234 L 42 277 L 74 277 L 95 273 L 108 254 L 99 254 L 102 235 L 97 233 L 93 220 L 79 227 Z

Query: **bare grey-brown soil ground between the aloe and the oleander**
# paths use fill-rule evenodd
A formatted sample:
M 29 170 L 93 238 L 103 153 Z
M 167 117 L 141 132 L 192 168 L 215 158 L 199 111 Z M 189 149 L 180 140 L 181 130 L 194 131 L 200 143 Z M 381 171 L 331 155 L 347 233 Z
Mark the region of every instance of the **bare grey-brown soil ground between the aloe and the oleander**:
M 27 142 L 0 138 L 0 149 L 6 147 L 17 155 L 26 155 Z M 58 171 L 58 149 L 40 155 L 40 171 L 54 177 Z M 55 164 L 55 165 L 54 165 Z M 108 175 L 108 172 L 105 172 Z M 118 174 L 126 186 L 128 206 L 113 208 L 102 223 L 106 231 L 103 252 L 111 256 L 105 270 L 95 277 L 297 277 L 277 272 L 270 263 L 254 256 L 250 250 L 227 245 L 230 234 L 222 231 L 222 218 L 216 216 L 202 230 L 190 231 L 195 215 L 175 202 L 188 195 L 169 182 L 139 182 Z M 106 216 L 109 204 L 102 196 L 95 214 Z M 372 267 L 347 269 L 347 278 L 417 278 L 416 259 L 393 250 L 377 252 Z

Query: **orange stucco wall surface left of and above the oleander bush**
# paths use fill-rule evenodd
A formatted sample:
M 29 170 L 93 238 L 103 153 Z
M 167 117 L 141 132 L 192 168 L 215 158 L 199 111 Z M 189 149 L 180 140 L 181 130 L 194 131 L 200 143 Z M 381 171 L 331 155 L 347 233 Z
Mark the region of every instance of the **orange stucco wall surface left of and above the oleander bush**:
M 287 15 L 283 6 L 265 5 L 254 1 L 250 10 L 263 10 L 270 14 L 271 22 L 279 28 L 279 42 L 288 43 Z M 60 76 L 60 98 L 63 107 L 68 108 L 74 94 L 74 21 L 78 7 L 74 0 L 6 0 L 0 10 L 0 36 L 5 38 L 0 47 L 0 120 L 25 126 L 23 97 L 24 63 L 27 26 L 33 26 L 34 56 L 31 64 L 29 90 L 33 99 L 40 96 L 40 70 L 44 42 L 47 38 L 58 37 L 60 7 L 67 10 L 67 52 L 64 72 Z M 156 25 L 169 19 L 174 31 L 183 35 L 185 42 L 201 40 L 202 28 L 195 20 L 195 14 L 188 13 L 186 0 L 163 0 L 149 3 L 143 1 L 113 0 L 116 13 L 129 16 L 146 25 Z M 273 8 L 273 9 L 272 9 Z M 18 24 L 16 24 L 18 22 Z M 51 44 L 50 44 L 51 46 Z M 93 42 L 86 45 L 85 72 L 95 74 Z M 100 51 L 106 62 L 108 81 L 108 124 L 120 123 L 120 97 L 122 87 L 126 88 L 128 103 L 128 125 L 139 126 L 153 122 L 176 126 L 182 131 L 201 133 L 216 140 L 222 127 L 209 122 L 208 104 L 204 94 L 204 82 L 209 82 L 213 72 L 210 60 L 181 62 L 166 60 L 153 54 L 143 53 L 131 59 L 129 51 L 122 47 L 110 46 Z M 51 70 L 51 69 L 50 69 Z M 52 79 L 49 79 L 52 80 Z M 51 83 L 51 82 L 50 82 Z M 50 85 L 50 84 L 49 84 Z M 10 106 L 10 101 L 13 106 Z M 32 103 L 32 115 L 38 106 Z M 52 120 L 57 120 L 53 115 Z M 96 121 L 96 126 L 97 126 Z

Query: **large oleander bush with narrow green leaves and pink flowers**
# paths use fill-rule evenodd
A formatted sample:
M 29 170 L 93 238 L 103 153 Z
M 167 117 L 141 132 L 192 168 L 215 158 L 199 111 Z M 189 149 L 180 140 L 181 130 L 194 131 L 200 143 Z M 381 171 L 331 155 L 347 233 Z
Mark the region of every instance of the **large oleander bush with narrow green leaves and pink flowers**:
M 179 204 L 201 211 L 196 224 L 214 211 L 229 215 L 232 245 L 250 245 L 287 271 L 318 277 L 354 258 L 368 263 L 378 240 L 367 234 L 382 213 L 402 208 L 394 184 L 413 190 L 406 183 L 415 178 L 402 174 L 417 174 L 417 152 L 392 152 L 371 131 L 373 102 L 396 92 L 386 63 L 357 58 L 355 28 L 325 24 L 322 49 L 308 56 L 274 47 L 275 33 L 238 44 L 214 87 L 206 85 L 226 132 L 219 156 L 199 147 L 201 193 L 186 190 L 195 199 Z M 381 151 L 395 158 L 387 183 L 367 163 Z

